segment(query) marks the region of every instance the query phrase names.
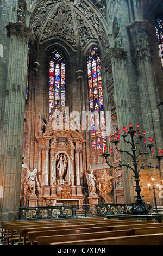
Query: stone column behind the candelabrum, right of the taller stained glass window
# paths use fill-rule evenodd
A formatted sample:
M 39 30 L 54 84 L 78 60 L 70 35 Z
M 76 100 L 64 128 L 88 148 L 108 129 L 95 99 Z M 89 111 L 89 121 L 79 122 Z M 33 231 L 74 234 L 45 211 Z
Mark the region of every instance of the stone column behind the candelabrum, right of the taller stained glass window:
M 132 120 L 132 113 L 130 111 L 130 97 L 129 97 L 129 84 L 127 75 L 127 51 L 122 47 L 110 48 L 102 59 L 102 67 L 109 73 L 109 83 L 114 92 L 114 103 L 116 106 L 117 126 L 122 129 Z M 114 84 L 112 86 L 112 84 Z M 113 114 L 113 116 L 115 113 Z M 113 118 L 114 119 L 114 118 Z M 110 145 L 111 146 L 111 145 Z M 129 145 L 121 140 L 121 148 L 129 150 Z M 125 154 L 121 155 L 123 162 L 128 161 Z M 111 161 L 115 161 L 112 157 Z M 113 162 L 114 163 L 114 162 Z M 115 165 L 115 163 L 114 163 Z M 123 168 L 123 180 L 124 180 L 124 201 L 133 202 L 134 190 L 133 190 L 133 178 L 132 173 L 128 172 L 127 168 Z M 116 191 L 114 191 L 116 193 Z M 115 194 L 116 197 L 116 194 Z

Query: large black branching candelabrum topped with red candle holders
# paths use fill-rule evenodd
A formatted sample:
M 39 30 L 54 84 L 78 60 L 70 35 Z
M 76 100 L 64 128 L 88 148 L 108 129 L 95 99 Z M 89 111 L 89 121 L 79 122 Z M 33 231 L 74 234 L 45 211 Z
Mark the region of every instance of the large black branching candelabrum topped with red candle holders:
M 122 149 L 118 148 L 118 143 L 120 143 L 121 137 L 123 138 L 124 142 L 131 145 L 131 151 L 122 150 Z M 160 167 L 160 162 L 163 157 L 162 156 L 163 149 L 161 151 L 158 149 L 158 154 L 156 156 L 153 156 L 154 159 L 158 159 L 158 165 L 156 165 L 154 167 L 151 165 L 151 163 L 149 163 L 149 164 L 141 164 L 139 167 L 138 166 L 139 165 L 139 160 L 138 160 L 139 156 L 148 155 L 151 152 L 154 155 L 154 151 L 152 150 L 152 148 L 154 146 L 154 140 L 151 137 L 149 137 L 149 143 L 146 143 L 145 131 L 143 131 L 143 135 L 142 135 L 138 124 L 137 124 L 137 131 L 133 129 L 132 124 L 130 123 L 129 129 L 127 129 L 126 126 L 123 127 L 122 134 L 121 134 L 121 130 L 119 130 L 118 137 L 117 137 L 117 133 L 115 133 L 115 139 L 112 140 L 111 136 L 109 136 L 109 138 L 110 138 L 110 143 L 115 144 L 115 147 L 118 152 L 126 153 L 127 155 L 131 156 L 133 164 L 131 166 L 130 164 L 121 163 L 121 161 L 119 161 L 117 166 L 113 166 L 111 163 L 108 162 L 108 157 L 112 157 L 112 154 L 106 153 L 106 151 L 104 151 L 104 153 L 102 154 L 102 157 L 105 157 L 106 163 L 111 168 L 126 166 L 127 168 L 131 169 L 134 172 L 133 177 L 135 178 L 135 182 L 136 182 L 135 191 L 137 193 L 137 196 L 135 196 L 135 198 L 137 198 L 137 199 L 136 199 L 135 203 L 133 204 L 131 210 L 134 215 L 149 214 L 149 210 L 150 210 L 151 206 L 145 205 L 144 200 L 142 200 L 142 197 L 144 197 L 144 196 L 141 196 L 141 187 L 142 186 L 139 184 L 140 177 L 141 177 L 141 175 L 139 175 L 139 173 L 140 173 L 140 170 L 144 169 L 145 167 L 158 169 Z M 142 141 L 145 143 L 145 147 L 147 150 L 145 152 L 139 151 L 137 153 L 136 146 L 138 144 L 142 143 Z M 111 153 L 112 153 L 112 149 L 111 149 Z

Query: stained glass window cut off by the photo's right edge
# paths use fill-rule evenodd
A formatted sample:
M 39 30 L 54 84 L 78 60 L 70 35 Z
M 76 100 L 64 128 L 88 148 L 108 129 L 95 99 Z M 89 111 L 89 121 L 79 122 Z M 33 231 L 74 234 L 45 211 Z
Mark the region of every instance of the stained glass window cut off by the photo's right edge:
M 161 44 L 163 46 L 163 16 L 159 15 L 156 17 L 155 21 L 155 29 L 156 29 L 156 35 L 159 42 L 159 48 L 161 49 Z M 161 57 L 161 63 L 163 66 L 163 57 Z

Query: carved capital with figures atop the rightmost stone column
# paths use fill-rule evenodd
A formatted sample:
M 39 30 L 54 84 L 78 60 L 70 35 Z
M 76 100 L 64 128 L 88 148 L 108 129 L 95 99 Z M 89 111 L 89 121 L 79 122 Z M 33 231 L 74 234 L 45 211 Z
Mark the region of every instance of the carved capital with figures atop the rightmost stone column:
M 136 62 L 137 58 L 153 57 L 153 50 L 148 37 L 151 28 L 152 25 L 147 20 L 137 20 L 128 25 L 133 62 Z

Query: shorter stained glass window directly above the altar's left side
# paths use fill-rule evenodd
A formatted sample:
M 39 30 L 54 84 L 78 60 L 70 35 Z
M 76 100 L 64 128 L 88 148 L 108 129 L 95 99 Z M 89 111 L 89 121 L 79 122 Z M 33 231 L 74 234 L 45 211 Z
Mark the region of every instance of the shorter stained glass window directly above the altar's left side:
M 54 50 L 49 60 L 49 113 L 50 115 L 66 105 L 65 58 Z

